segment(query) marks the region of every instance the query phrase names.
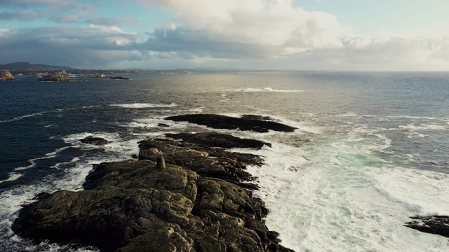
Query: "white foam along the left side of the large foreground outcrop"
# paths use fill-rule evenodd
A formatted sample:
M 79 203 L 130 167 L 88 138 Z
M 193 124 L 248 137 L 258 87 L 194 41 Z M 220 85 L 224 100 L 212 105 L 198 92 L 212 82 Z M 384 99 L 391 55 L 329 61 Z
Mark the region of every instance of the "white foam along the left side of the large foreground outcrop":
M 111 140 L 111 142 L 107 144 L 107 146 L 91 146 L 82 144 L 78 141 L 89 135 L 105 137 L 106 139 Z M 43 158 L 55 157 L 55 155 L 58 155 L 58 153 L 67 148 L 81 148 L 84 151 L 83 155 L 51 167 L 52 169 L 60 169 L 65 173 L 62 179 L 54 179 L 49 176 L 48 178 L 27 184 L 26 186 L 15 186 L 0 194 L 0 201 L 2 202 L 2 204 L 0 204 L 1 241 L 20 244 L 24 251 L 98 251 L 95 248 L 69 248 L 63 245 L 47 244 L 46 242 L 36 245 L 18 237 L 11 230 L 13 220 L 22 204 L 33 202 L 34 200 L 32 200 L 32 198 L 42 192 L 53 193 L 56 190 L 82 190 L 82 183 L 85 181 L 88 173 L 92 170 L 93 164 L 129 159 L 131 155 L 138 153 L 137 141 L 140 140 L 122 139 L 119 134 L 106 132 L 83 132 L 71 134 L 62 139 L 64 139 L 66 143 L 71 144 L 71 146 L 58 148 L 51 153 L 47 153 Z M 98 151 L 101 151 L 101 155 L 98 155 Z

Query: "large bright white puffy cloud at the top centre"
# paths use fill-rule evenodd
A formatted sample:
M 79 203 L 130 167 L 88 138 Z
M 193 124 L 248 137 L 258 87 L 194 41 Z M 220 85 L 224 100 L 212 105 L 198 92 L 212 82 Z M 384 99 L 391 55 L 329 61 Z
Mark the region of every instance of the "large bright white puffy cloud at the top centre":
M 321 48 L 341 48 L 341 36 L 351 29 L 328 13 L 293 8 L 290 0 L 147 0 L 173 11 L 173 22 L 187 32 L 208 34 L 220 43 L 277 47 L 285 54 Z

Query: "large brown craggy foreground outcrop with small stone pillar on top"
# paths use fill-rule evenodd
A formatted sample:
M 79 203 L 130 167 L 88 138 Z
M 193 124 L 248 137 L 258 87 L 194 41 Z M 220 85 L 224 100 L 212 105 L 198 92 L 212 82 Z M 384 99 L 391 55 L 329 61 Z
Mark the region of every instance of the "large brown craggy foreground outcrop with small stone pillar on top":
M 149 139 L 139 159 L 95 165 L 86 190 L 42 195 L 20 211 L 14 232 L 101 251 L 291 251 L 248 189 L 254 178 L 244 169 L 262 164 L 257 155 Z

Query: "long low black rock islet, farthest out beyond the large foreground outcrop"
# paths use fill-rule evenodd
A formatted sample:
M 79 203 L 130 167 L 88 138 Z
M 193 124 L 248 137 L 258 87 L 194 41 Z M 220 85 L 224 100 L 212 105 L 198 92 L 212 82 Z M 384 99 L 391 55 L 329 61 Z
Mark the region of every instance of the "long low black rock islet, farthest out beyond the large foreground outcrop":
M 234 118 L 230 116 L 221 116 L 213 114 L 192 114 L 181 116 L 169 116 L 166 120 L 173 120 L 176 122 L 189 122 L 199 125 L 205 125 L 214 129 L 227 130 L 248 130 L 254 132 L 268 132 L 274 130 L 278 132 L 293 132 L 295 127 L 276 123 L 269 120 L 260 120 L 258 118 Z

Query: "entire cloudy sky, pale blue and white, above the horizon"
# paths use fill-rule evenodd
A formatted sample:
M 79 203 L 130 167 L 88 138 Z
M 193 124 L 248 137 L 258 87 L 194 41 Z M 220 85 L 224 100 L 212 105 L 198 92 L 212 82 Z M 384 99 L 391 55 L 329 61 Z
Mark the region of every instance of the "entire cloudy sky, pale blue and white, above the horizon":
M 449 0 L 0 0 L 0 64 L 449 71 Z

